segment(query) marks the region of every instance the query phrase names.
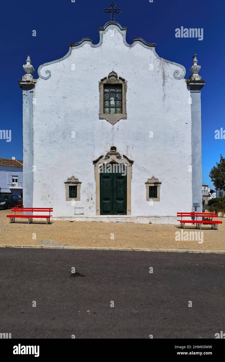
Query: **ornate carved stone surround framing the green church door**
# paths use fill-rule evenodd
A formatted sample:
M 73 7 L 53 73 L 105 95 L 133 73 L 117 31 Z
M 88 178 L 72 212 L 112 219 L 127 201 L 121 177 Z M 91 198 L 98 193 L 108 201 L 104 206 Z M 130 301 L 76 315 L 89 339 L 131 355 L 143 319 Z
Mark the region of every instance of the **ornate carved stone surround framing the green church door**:
M 105 155 L 101 155 L 98 159 L 93 161 L 95 165 L 95 195 L 96 195 L 96 215 L 100 215 L 100 172 L 99 168 L 104 163 L 108 164 L 116 162 L 118 164 L 125 164 L 127 167 L 127 208 L 126 215 L 131 215 L 131 178 L 132 178 L 132 165 L 134 161 L 130 160 L 127 156 L 121 157 L 120 153 L 116 151 L 116 147 L 112 146 L 111 150 Z

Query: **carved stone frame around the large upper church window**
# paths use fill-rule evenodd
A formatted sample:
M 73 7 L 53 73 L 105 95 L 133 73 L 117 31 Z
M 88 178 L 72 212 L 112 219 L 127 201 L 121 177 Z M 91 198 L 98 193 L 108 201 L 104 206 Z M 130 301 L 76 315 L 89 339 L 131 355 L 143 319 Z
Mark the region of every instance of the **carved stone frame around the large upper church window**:
M 122 84 L 122 113 L 108 114 L 104 113 L 104 84 L 115 85 Z M 119 77 L 116 72 L 109 73 L 108 77 L 101 79 L 99 82 L 99 93 L 100 93 L 100 110 L 99 119 L 106 119 L 111 125 L 114 125 L 120 119 L 127 119 L 126 114 L 126 90 L 127 82 L 124 78 Z

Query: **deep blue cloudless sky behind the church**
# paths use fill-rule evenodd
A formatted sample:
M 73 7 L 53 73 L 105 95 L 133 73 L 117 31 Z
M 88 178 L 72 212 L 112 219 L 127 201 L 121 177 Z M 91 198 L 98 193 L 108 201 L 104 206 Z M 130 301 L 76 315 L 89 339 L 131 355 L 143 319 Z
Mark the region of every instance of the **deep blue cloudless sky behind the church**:
M 88 37 L 99 42 L 98 27 L 110 21 L 104 13 L 111 0 L 38 0 L 1 3 L 0 129 L 12 130 L 12 141 L 0 140 L 0 157 L 22 159 L 22 90 L 18 79 L 30 55 L 38 77 L 40 64 L 59 59 L 68 52 L 68 43 Z M 203 182 L 213 188 L 209 171 L 220 153 L 225 156 L 225 139 L 215 140 L 215 130 L 223 127 L 225 87 L 224 0 L 115 0 L 122 9 L 115 17 L 127 26 L 127 42 L 141 37 L 156 43 L 159 56 L 180 63 L 189 78 L 192 55 L 202 66 L 206 81 L 202 89 Z M 203 28 L 204 38 L 176 38 L 175 29 Z M 36 30 L 36 37 L 32 36 Z M 181 165 L 182 166 L 182 165 Z

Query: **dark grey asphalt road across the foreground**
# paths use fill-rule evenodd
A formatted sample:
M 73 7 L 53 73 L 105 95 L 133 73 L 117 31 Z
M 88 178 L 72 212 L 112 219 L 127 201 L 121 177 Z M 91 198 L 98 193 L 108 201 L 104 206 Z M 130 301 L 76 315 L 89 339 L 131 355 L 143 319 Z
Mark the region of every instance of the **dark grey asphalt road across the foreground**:
M 215 338 L 224 269 L 224 254 L 0 248 L 0 333 Z

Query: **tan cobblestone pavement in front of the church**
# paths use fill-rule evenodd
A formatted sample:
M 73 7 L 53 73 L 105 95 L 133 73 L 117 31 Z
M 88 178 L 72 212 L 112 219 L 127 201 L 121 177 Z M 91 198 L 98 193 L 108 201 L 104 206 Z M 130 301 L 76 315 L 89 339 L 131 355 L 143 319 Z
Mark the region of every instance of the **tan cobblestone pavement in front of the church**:
M 177 241 L 176 232 L 183 230 L 179 225 L 171 224 L 136 224 L 136 223 L 103 223 L 55 221 L 46 224 L 46 220 L 34 220 L 28 224 L 20 219 L 10 224 L 6 215 L 9 210 L 0 210 L 0 246 L 26 245 L 49 247 L 91 247 L 91 248 L 148 248 L 179 249 L 202 251 L 225 251 L 225 219 L 218 225 L 218 230 L 211 226 L 202 226 L 203 243 L 200 241 L 200 230 L 194 225 L 186 224 L 185 231 L 198 231 L 199 240 Z M 13 213 L 12 213 L 13 214 Z M 114 239 L 113 239 L 114 237 Z M 185 235 L 183 235 L 185 238 Z M 190 234 L 188 235 L 188 238 Z M 36 238 L 36 239 L 35 239 Z

